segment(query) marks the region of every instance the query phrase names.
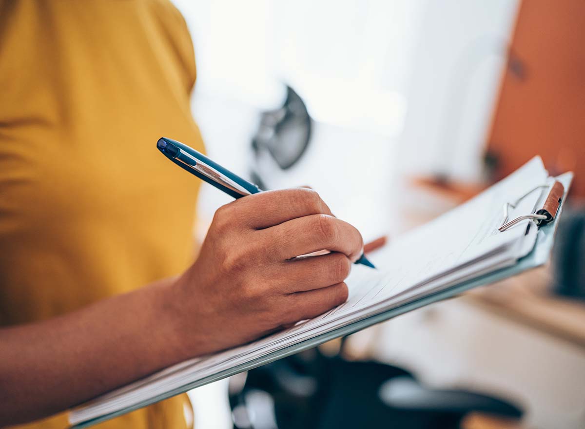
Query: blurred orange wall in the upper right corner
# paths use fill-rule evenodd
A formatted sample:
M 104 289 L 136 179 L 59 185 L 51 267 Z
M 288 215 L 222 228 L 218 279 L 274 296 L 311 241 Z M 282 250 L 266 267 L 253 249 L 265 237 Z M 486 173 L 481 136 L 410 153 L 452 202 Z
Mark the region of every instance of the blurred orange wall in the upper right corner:
M 495 179 L 541 155 L 573 170 L 585 195 L 585 1 L 524 0 L 495 109 L 488 151 Z

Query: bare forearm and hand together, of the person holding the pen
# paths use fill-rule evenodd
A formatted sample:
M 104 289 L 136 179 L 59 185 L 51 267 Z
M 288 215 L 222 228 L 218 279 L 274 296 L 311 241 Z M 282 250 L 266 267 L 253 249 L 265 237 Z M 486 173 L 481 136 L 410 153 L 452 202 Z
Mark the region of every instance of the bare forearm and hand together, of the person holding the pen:
M 357 229 L 307 188 L 226 204 L 180 277 L 0 330 L 0 426 L 324 313 L 347 299 L 343 280 L 363 248 Z M 295 258 L 322 249 L 331 253 Z

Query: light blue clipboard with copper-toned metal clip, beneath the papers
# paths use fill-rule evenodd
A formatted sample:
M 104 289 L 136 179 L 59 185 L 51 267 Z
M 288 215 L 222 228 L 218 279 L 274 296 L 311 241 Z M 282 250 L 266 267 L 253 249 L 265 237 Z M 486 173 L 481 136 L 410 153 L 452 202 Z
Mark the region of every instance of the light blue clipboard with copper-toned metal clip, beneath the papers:
M 135 406 L 128 407 L 123 410 L 116 411 L 114 413 L 105 414 L 104 416 L 100 416 L 94 418 L 92 420 L 87 420 L 77 425 L 73 425 L 71 429 L 81 429 L 85 427 L 90 427 L 94 424 L 101 423 L 106 420 L 110 420 L 111 418 L 122 416 L 123 414 L 127 414 L 130 411 L 135 411 L 140 408 L 149 406 L 150 404 L 159 402 L 164 399 L 168 399 L 169 397 L 176 396 L 177 394 L 185 393 L 188 390 L 195 389 L 199 386 L 204 386 L 209 383 L 224 379 L 226 377 L 238 374 L 240 372 L 244 372 L 250 369 L 257 368 L 261 365 L 266 365 L 267 363 L 277 361 L 278 359 L 285 358 L 290 355 L 297 354 L 298 352 L 305 351 L 310 348 L 314 348 L 318 345 L 323 344 L 324 342 L 330 341 L 335 338 L 343 337 L 345 335 L 353 334 L 354 332 L 363 330 L 364 328 L 370 327 L 371 325 L 378 324 L 380 322 L 384 322 L 389 320 L 393 317 L 398 315 L 408 313 L 408 311 L 416 310 L 417 308 L 421 308 L 427 306 L 429 304 L 435 303 L 436 301 L 445 300 L 448 298 L 455 297 L 459 294 L 462 294 L 464 291 L 469 289 L 473 289 L 474 287 L 483 286 L 488 283 L 498 282 L 500 280 L 506 279 L 508 277 L 514 276 L 515 274 L 519 274 L 524 272 L 525 270 L 535 268 L 545 264 L 550 255 L 550 251 L 552 250 L 554 235 L 556 231 L 556 226 L 558 224 L 558 219 L 562 212 L 563 203 L 566 200 L 566 195 L 569 191 L 570 183 L 573 179 L 573 173 L 565 173 L 561 174 L 558 177 L 555 177 L 556 182 L 562 185 L 562 192 L 560 192 L 560 187 L 553 184 L 551 190 L 549 191 L 548 197 L 545 199 L 545 203 L 542 205 L 541 208 L 535 210 L 532 214 L 522 215 L 519 218 L 513 219 L 515 221 L 514 225 L 524 219 L 532 219 L 535 221 L 536 225 L 538 226 L 538 234 L 536 236 L 536 242 L 534 247 L 532 248 L 531 252 L 528 255 L 524 256 L 518 260 L 518 262 L 510 267 L 505 267 L 500 270 L 496 270 L 489 274 L 485 274 L 483 276 L 477 277 L 476 279 L 467 280 L 462 283 L 457 284 L 456 286 L 449 287 L 448 289 L 443 289 L 436 293 L 429 294 L 427 296 L 418 298 L 417 300 L 411 301 L 407 304 L 403 304 L 402 306 L 392 308 L 391 310 L 384 311 L 383 313 L 378 313 L 376 315 L 372 315 L 370 317 L 363 318 L 362 320 L 357 320 L 349 325 L 345 325 L 340 328 L 336 328 L 335 330 L 324 332 L 321 335 L 318 335 L 313 338 L 306 339 L 302 342 L 297 344 L 288 346 L 287 348 L 280 349 L 278 351 L 272 352 L 270 354 L 261 356 L 261 358 L 254 359 L 252 361 L 243 363 L 242 365 L 233 366 L 227 370 L 215 373 L 214 375 L 199 379 L 195 382 L 188 383 L 187 385 L 181 386 L 178 389 L 173 389 L 161 394 L 157 397 L 153 397 L 148 400 L 144 400 L 140 403 L 137 403 Z M 549 186 L 549 185 L 547 185 Z M 542 188 L 543 186 L 539 186 L 537 188 Z M 534 188 L 535 191 L 537 188 Z M 553 192 L 553 190 L 555 192 Z M 531 191 L 531 193 L 532 193 Z M 521 196 L 519 200 L 524 198 Z M 518 201 L 518 200 L 517 200 Z M 556 201 L 556 204 L 554 204 Z M 548 203 L 548 204 L 547 204 Z M 511 207 L 514 206 L 514 203 L 508 203 Z M 509 207 L 505 208 L 504 210 L 507 213 Z M 548 211 L 548 214 L 541 212 L 542 210 Z M 546 221 L 544 218 L 534 218 L 531 216 L 534 215 L 546 216 Z M 510 221 L 512 222 L 512 221 Z M 504 219 L 503 225 L 505 226 L 508 222 L 507 216 Z M 502 228 L 500 226 L 500 228 Z M 511 225 L 513 226 L 513 225 Z M 510 226 L 508 226 L 510 228 Z M 505 229 L 504 229 L 505 230 Z

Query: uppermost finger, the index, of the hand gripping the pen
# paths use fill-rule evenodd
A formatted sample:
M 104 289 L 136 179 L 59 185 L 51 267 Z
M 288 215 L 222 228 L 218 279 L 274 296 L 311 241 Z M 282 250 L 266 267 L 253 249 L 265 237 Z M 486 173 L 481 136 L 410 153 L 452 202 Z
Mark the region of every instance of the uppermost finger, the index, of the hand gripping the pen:
M 247 195 L 230 203 L 240 221 L 254 229 L 280 225 L 291 219 L 314 214 L 332 216 L 331 210 L 314 190 L 289 188 Z

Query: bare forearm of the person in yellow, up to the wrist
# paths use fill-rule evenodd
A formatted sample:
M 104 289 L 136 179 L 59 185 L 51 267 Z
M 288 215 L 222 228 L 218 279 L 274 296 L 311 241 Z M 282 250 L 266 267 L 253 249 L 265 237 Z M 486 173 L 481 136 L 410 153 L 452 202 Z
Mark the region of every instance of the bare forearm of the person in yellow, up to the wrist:
M 169 280 L 0 330 L 0 426 L 71 407 L 188 357 Z

